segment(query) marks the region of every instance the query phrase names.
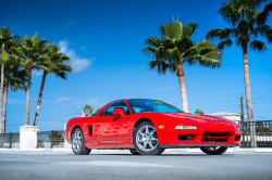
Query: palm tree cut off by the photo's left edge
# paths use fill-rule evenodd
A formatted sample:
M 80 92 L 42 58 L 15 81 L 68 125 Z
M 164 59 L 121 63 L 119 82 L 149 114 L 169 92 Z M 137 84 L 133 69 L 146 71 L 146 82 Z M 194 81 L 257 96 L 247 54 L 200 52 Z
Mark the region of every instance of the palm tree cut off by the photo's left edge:
M 0 27 L 0 52 L 1 52 L 1 83 L 0 83 L 0 133 L 3 132 L 2 107 L 3 107 L 3 81 L 4 81 L 4 65 L 8 62 L 18 63 L 20 56 L 13 54 L 11 51 L 17 48 L 20 39 L 18 36 L 11 36 L 9 27 Z

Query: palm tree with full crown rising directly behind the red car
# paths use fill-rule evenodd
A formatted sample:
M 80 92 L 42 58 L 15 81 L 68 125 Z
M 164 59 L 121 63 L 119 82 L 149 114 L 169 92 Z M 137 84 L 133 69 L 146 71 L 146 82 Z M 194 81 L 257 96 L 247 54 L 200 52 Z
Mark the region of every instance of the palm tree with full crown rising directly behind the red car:
M 161 39 L 150 36 L 146 39 L 143 52 L 154 61 L 150 61 L 150 69 L 157 69 L 158 74 L 168 70 L 176 73 L 178 77 L 183 111 L 188 112 L 187 94 L 184 80 L 183 65 L 199 64 L 203 67 L 219 67 L 221 64 L 221 51 L 208 39 L 194 42 L 190 36 L 198 27 L 197 23 L 188 23 L 183 26 L 182 22 L 174 21 L 160 26 Z

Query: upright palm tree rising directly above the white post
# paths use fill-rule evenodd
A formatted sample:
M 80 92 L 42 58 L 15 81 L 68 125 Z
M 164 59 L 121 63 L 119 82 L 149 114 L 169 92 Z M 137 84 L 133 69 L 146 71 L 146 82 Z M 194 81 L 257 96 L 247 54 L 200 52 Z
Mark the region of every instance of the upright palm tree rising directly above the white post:
M 32 70 L 38 68 L 38 60 L 45 51 L 45 43 L 48 42 L 46 39 L 38 37 L 37 33 L 33 36 L 24 36 L 24 42 L 20 47 L 18 52 L 25 61 L 23 66 L 27 73 L 27 89 L 26 89 L 26 115 L 25 125 L 29 125 L 29 108 L 30 108 L 30 83 L 32 83 Z

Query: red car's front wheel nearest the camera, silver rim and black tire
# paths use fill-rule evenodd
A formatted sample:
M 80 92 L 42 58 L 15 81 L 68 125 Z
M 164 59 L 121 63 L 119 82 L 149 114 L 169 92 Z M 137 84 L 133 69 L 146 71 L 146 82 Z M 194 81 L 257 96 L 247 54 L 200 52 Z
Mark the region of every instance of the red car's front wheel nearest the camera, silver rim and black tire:
M 133 144 L 141 155 L 160 155 L 164 151 L 159 144 L 157 130 L 151 121 L 143 121 L 136 127 Z

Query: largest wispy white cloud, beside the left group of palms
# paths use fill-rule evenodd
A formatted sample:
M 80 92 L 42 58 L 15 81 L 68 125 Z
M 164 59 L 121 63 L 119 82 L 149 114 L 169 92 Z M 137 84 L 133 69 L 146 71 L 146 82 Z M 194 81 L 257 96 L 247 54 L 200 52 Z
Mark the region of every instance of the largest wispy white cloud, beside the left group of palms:
M 69 41 L 66 40 L 60 41 L 59 46 L 61 48 L 61 52 L 65 53 L 71 59 L 70 64 L 75 73 L 86 70 L 91 65 L 91 62 L 96 60 L 95 57 L 81 57 L 75 53 L 75 50 L 69 49 Z

